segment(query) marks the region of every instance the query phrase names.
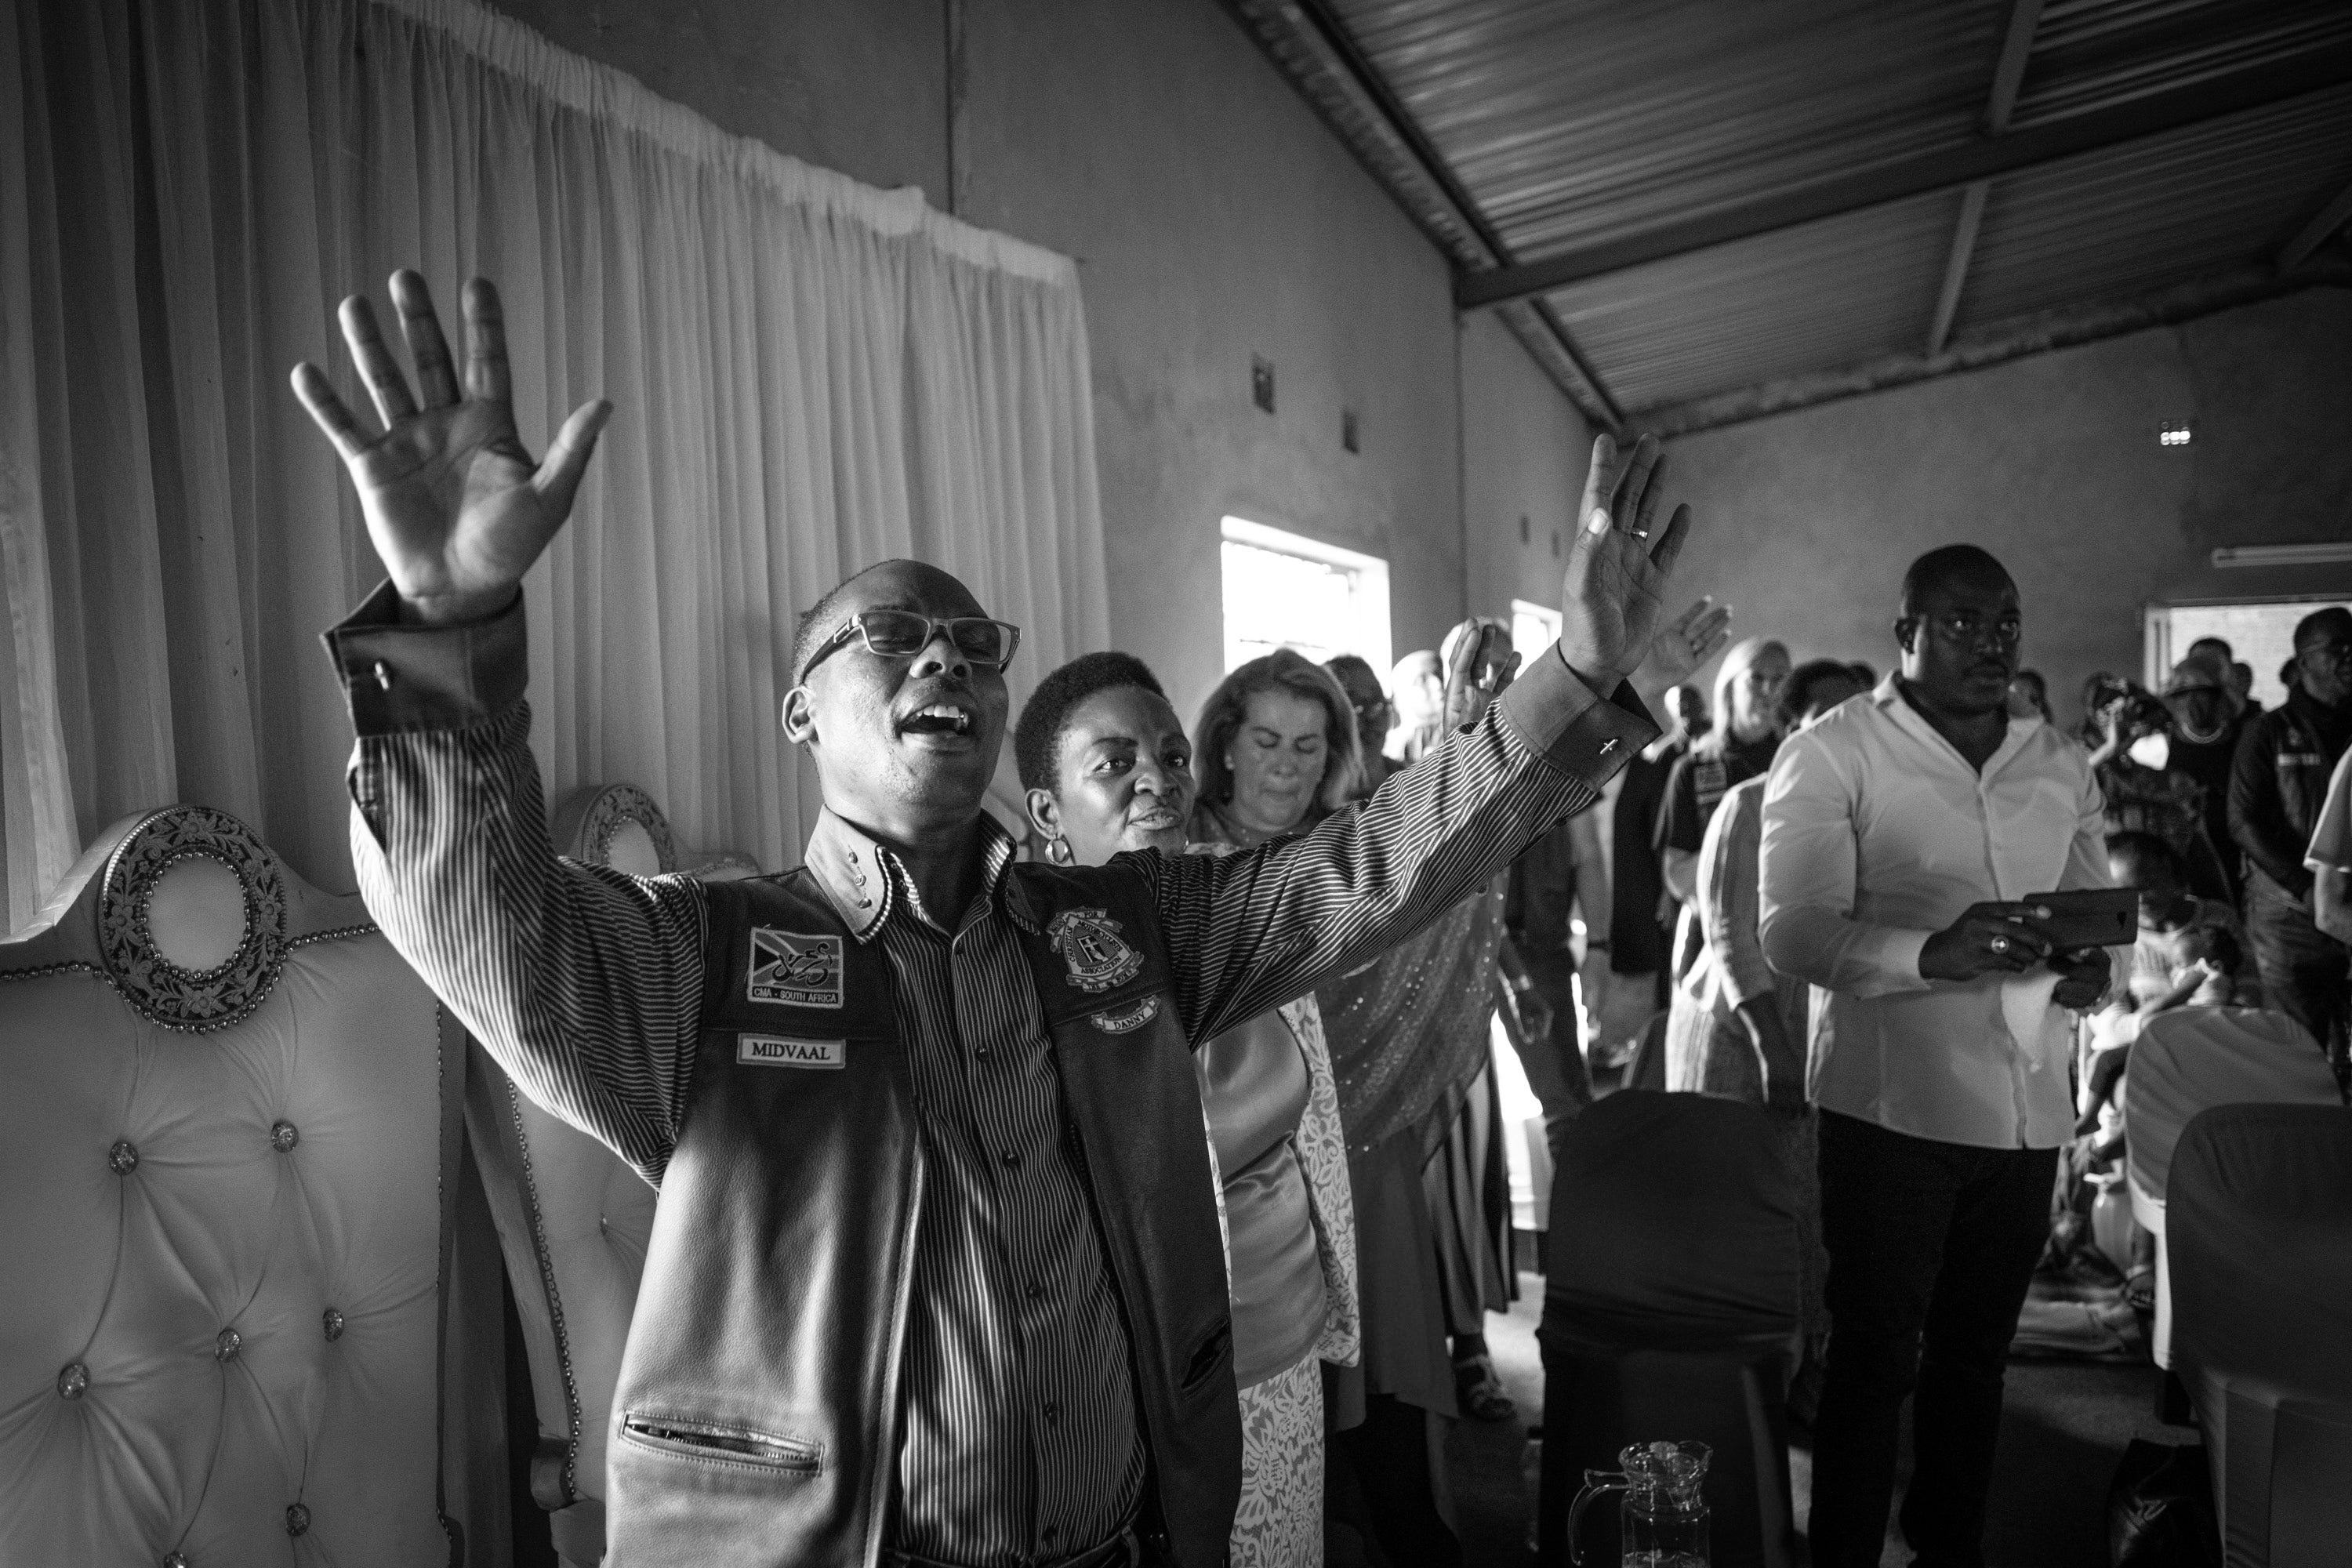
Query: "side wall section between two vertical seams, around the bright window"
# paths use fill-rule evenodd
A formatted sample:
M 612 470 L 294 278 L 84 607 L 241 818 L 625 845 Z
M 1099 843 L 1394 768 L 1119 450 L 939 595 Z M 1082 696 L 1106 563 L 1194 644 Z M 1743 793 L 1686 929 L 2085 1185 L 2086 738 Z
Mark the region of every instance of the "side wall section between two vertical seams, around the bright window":
M 967 61 L 964 216 L 1080 261 L 1115 642 L 1192 712 L 1232 512 L 1385 557 L 1395 646 L 1432 644 L 1463 607 L 1444 259 L 1211 0 L 981 2 Z

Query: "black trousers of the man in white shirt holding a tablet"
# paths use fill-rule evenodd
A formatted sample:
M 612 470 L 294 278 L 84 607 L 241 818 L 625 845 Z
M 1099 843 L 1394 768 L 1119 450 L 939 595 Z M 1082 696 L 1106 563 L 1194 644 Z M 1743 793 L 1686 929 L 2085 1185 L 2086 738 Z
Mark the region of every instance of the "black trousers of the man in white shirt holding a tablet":
M 2058 1150 L 1978 1150 L 1820 1117 L 1830 1359 L 1813 1420 L 1818 1568 L 1877 1568 L 1905 1394 L 1919 1563 L 1980 1568 L 2002 1371 L 2049 1237 Z

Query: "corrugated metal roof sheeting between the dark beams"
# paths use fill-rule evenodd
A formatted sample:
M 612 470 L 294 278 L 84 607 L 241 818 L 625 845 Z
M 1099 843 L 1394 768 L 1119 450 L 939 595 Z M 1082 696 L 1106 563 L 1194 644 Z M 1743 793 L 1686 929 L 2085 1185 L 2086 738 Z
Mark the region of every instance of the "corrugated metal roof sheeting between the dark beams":
M 1270 5 L 1225 2 L 1244 14 Z M 1284 0 L 1275 9 L 1341 28 L 1343 54 L 1402 108 L 1439 160 L 1439 181 L 1468 197 L 1508 261 L 1529 263 L 1971 143 L 1985 134 L 2013 0 Z M 2049 0 L 2011 129 L 2345 42 L 2347 0 Z M 1329 71 L 1324 61 L 1324 96 Z M 1362 127 L 1336 127 L 1362 141 Z M 1985 341 L 2027 317 L 2046 331 L 2065 310 L 2122 322 L 2131 317 L 2117 306 L 2164 296 L 2176 308 L 2180 287 L 2201 280 L 2234 280 L 2237 299 L 2249 268 L 2277 256 L 2347 183 L 2352 87 L 2002 176 L 1964 273 L 1955 341 Z M 1635 411 L 1924 357 L 1959 209 L 1959 193 L 1910 197 L 1588 277 L 1548 299 L 1599 381 Z

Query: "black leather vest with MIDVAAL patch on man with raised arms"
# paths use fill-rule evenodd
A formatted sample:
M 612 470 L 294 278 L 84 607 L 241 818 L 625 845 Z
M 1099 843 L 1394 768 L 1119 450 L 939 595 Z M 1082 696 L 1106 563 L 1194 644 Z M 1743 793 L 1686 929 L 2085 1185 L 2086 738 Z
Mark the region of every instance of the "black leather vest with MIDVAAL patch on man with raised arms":
M 889 954 L 849 936 L 807 870 L 708 898 L 701 1041 L 614 1396 L 607 1561 L 868 1568 L 896 1476 L 924 1190 Z M 1157 912 L 1115 865 L 1014 865 L 1002 898 L 1127 1319 L 1143 1523 L 1174 1563 L 1214 1568 L 1242 1418 Z

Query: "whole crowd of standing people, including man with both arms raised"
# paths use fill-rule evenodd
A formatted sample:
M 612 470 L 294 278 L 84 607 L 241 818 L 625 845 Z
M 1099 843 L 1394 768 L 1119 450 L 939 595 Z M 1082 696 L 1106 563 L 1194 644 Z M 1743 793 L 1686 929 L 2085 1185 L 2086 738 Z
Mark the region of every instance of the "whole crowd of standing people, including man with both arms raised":
M 2018 670 L 2016 583 L 1952 545 L 1889 585 L 1886 679 L 1745 639 L 1710 705 L 1682 682 L 1729 614 L 1663 614 L 1691 517 L 1651 440 L 1595 444 L 1524 668 L 1479 618 L 1385 684 L 1275 651 L 1188 726 L 1101 651 L 1014 722 L 1018 628 L 884 562 L 795 628 L 804 867 L 562 860 L 520 581 L 609 409 L 532 463 L 496 294 L 466 292 L 463 383 L 423 282 L 393 299 L 416 395 L 343 315 L 381 435 L 296 371 L 390 578 L 329 632 L 355 863 L 515 1081 L 661 1185 L 616 1556 L 1461 1561 L 1444 1429 L 1510 1413 L 1482 1338 L 1517 1279 L 1501 1013 L 1555 1138 L 1597 1072 L 1778 1119 L 1813 1561 L 1877 1563 L 1910 1394 L 1903 1528 L 1973 1561 L 2058 1152 L 2129 1020 L 2251 999 L 2251 945 L 2343 1060 L 2352 616 L 2298 630 L 2284 710 L 2192 649 L 2161 698 L 2100 686 L 2077 738 Z M 1021 835 L 983 809 L 1007 731 Z M 2227 755 L 2223 816 L 2194 748 Z M 2053 947 L 2034 900 L 2117 884 L 2138 943 Z

